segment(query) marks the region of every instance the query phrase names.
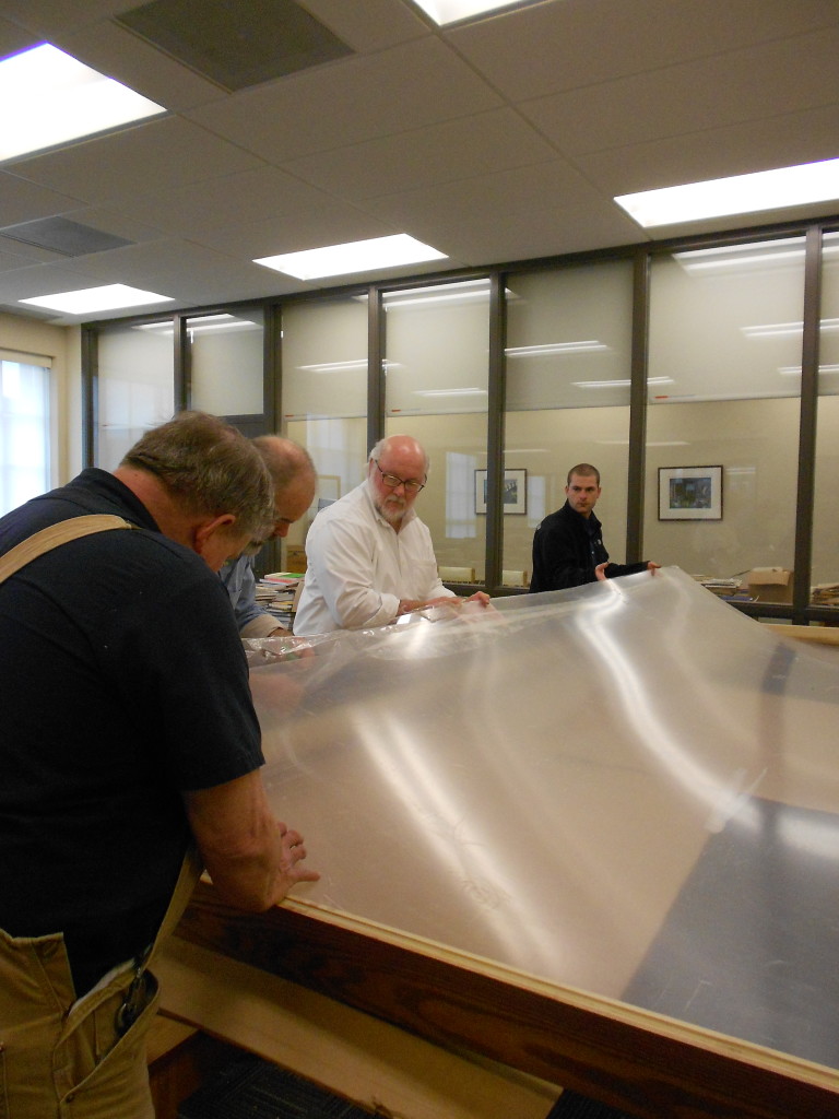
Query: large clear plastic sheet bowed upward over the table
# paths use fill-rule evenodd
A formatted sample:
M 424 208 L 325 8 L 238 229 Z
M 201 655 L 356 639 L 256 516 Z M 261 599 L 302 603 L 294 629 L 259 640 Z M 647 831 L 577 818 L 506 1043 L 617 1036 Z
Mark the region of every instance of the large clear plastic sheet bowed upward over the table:
M 678 568 L 272 648 L 298 896 L 839 1066 L 839 650 Z

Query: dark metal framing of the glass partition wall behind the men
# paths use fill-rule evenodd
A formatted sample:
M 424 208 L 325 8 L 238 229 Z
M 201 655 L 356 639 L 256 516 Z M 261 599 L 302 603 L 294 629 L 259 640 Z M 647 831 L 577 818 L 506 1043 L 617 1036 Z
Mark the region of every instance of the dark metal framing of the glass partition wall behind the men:
M 109 319 L 93 321 L 82 327 L 82 441 L 86 466 L 94 466 L 96 458 L 96 427 L 98 416 L 98 333 L 106 327 L 119 323 L 169 321 L 175 327 L 173 369 L 175 399 L 177 408 L 190 406 L 191 376 L 190 354 L 187 339 L 187 320 L 230 311 L 244 307 L 260 307 L 264 313 L 264 401 L 265 411 L 260 416 L 238 417 L 255 423 L 263 431 L 277 431 L 279 401 L 282 394 L 282 346 L 281 321 L 284 307 L 299 302 L 311 302 L 336 297 L 364 294 L 368 299 L 368 389 L 367 389 L 367 434 L 368 445 L 385 433 L 385 377 L 386 352 L 385 313 L 383 300 L 386 292 L 406 291 L 412 288 L 454 283 L 469 279 L 490 281 L 489 322 L 489 399 L 487 427 L 488 500 L 487 500 L 487 549 L 486 586 L 494 594 L 522 593 L 511 587 L 502 587 L 502 499 L 501 479 L 505 454 L 506 413 L 506 330 L 507 314 L 505 291 L 510 276 L 522 272 L 552 271 L 596 261 L 630 260 L 633 265 L 632 292 L 632 352 L 630 388 L 630 452 L 629 485 L 626 496 L 626 558 L 640 560 L 643 554 L 643 496 L 647 434 L 647 368 L 649 356 L 650 272 L 652 262 L 659 255 L 671 254 L 688 248 L 711 248 L 736 245 L 755 239 L 801 237 L 805 238 L 803 344 L 801 361 L 801 398 L 799 416 L 798 498 L 795 511 L 795 560 L 793 596 L 791 604 L 782 603 L 736 603 L 737 609 L 753 617 L 790 619 L 805 623 L 809 621 L 835 621 L 837 611 L 829 606 L 810 604 L 810 568 L 812 562 L 813 495 L 816 476 L 816 433 L 818 417 L 819 378 L 819 321 L 821 308 L 821 246 L 826 233 L 839 229 L 839 215 L 830 215 L 810 222 L 776 223 L 751 226 L 725 233 L 679 237 L 668 241 L 649 242 L 619 248 L 574 253 L 567 256 L 539 257 L 517 261 L 486 269 L 461 269 L 412 276 L 398 281 L 380 281 L 368 285 L 346 285 L 321 289 L 295 295 L 230 302 L 214 307 L 192 308 L 170 316 L 142 319 Z M 236 422 L 235 416 L 228 417 Z

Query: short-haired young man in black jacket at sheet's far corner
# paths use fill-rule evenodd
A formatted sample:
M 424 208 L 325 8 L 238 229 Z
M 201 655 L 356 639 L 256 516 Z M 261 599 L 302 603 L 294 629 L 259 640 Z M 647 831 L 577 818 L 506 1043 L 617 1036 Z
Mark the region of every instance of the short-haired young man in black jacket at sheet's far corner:
M 594 516 L 594 506 L 601 495 L 596 467 L 588 462 L 572 467 L 567 482 L 565 505 L 546 517 L 536 529 L 530 593 L 563 591 L 641 571 L 653 573 L 659 565 L 652 561 L 610 563 L 601 523 Z

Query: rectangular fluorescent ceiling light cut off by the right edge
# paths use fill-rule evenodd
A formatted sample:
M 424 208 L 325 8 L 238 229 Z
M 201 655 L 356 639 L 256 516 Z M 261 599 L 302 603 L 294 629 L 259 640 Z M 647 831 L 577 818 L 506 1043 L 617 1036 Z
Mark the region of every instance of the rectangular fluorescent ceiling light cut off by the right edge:
M 619 195 L 615 201 L 645 229 L 676 222 L 839 200 L 839 159 L 679 187 Z

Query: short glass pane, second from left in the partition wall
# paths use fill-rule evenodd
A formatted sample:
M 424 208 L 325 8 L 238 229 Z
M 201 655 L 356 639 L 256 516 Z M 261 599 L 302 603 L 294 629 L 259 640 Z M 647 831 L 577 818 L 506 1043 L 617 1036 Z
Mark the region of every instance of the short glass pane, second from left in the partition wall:
M 194 408 L 218 416 L 262 415 L 263 323 L 256 307 L 187 320 Z

